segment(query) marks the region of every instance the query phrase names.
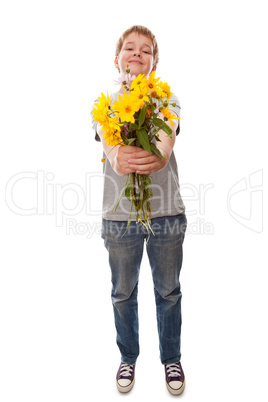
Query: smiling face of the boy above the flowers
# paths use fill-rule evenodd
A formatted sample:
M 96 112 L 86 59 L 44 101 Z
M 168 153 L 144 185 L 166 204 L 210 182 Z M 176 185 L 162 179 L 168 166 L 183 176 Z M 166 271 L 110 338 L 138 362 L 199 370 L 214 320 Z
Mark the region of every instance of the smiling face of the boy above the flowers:
M 136 32 L 129 34 L 125 38 L 114 64 L 116 68 L 120 69 L 121 74 L 126 73 L 128 64 L 131 75 L 144 74 L 148 77 L 156 68 L 153 65 L 153 44 L 151 39 Z

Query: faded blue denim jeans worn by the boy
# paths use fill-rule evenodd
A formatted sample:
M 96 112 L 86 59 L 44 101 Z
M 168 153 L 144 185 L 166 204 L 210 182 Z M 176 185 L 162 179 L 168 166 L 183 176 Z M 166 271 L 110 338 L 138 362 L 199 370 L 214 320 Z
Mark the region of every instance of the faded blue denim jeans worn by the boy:
M 185 214 L 152 219 L 153 234 L 141 224 L 103 220 L 102 237 L 109 252 L 112 303 L 117 345 L 123 363 L 135 364 L 139 355 L 138 280 L 145 240 L 157 313 L 160 359 L 163 364 L 180 361 L 182 244 Z M 149 239 L 148 239 L 149 236 Z

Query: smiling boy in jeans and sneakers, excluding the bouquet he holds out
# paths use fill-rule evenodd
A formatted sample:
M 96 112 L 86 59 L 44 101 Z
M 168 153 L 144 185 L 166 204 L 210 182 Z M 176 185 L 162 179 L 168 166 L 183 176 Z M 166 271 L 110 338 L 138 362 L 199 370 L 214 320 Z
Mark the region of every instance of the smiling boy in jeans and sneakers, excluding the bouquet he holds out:
M 133 26 L 123 33 L 116 47 L 115 67 L 125 74 L 144 74 L 147 78 L 158 63 L 158 46 L 152 32 L 142 26 Z M 124 86 L 112 94 L 117 100 Z M 172 96 L 170 111 L 179 117 L 180 107 Z M 161 115 L 159 116 L 161 117 Z M 163 116 L 162 116 L 163 118 Z M 122 197 L 113 213 L 124 183 L 125 175 L 136 172 L 150 174 L 153 184 L 152 229 L 146 243 L 154 281 L 155 302 L 161 362 L 165 365 L 167 389 L 173 395 L 184 390 L 185 378 L 180 359 L 181 291 L 179 275 L 182 265 L 182 244 L 186 230 L 185 207 L 182 202 L 173 147 L 179 133 L 179 121 L 174 120 L 172 138 L 160 132 L 157 143 L 166 158 L 149 154 L 142 148 L 124 145 L 113 148 L 102 140 L 102 129 L 93 119 L 96 140 L 102 141 L 106 154 L 104 164 L 103 228 L 102 237 L 109 252 L 112 273 L 112 303 L 114 309 L 117 344 L 121 364 L 116 376 L 120 392 L 128 392 L 134 385 L 135 364 L 139 355 L 137 290 L 139 269 L 145 240 L 149 233 L 132 216 L 126 230 L 130 202 Z M 134 214 L 133 214 L 134 215 Z

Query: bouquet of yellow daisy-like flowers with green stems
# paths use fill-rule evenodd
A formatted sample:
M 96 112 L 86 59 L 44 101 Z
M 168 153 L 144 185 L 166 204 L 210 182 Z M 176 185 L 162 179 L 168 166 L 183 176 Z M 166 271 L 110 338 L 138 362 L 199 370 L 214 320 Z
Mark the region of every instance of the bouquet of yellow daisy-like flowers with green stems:
M 125 77 L 120 78 L 125 92 L 119 95 L 119 100 L 112 102 L 109 94 L 101 93 L 99 102 L 94 104 L 93 115 L 96 122 L 102 126 L 103 140 L 108 145 L 132 145 L 142 147 L 149 153 L 155 153 L 159 158 L 165 159 L 156 146 L 159 139 L 159 131 L 163 130 L 169 137 L 172 136 L 171 128 L 167 121 L 173 125 L 172 120 L 179 117 L 169 111 L 169 99 L 172 95 L 170 86 L 155 78 L 152 72 L 147 79 L 139 74 L 137 77 L 130 75 L 130 69 L 126 67 Z M 175 103 L 172 104 L 176 106 Z M 164 119 L 159 118 L 162 113 Z M 147 230 L 151 230 L 151 205 L 153 197 L 152 181 L 148 174 L 130 173 L 118 203 L 116 211 L 123 196 L 131 202 L 129 222 L 133 207 L 136 212 L 136 222 L 142 223 Z

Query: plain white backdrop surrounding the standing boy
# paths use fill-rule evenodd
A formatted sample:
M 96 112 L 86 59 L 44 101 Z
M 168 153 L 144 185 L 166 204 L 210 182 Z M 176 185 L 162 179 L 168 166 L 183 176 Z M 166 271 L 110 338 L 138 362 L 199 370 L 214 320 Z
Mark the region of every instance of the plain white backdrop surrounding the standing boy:
M 115 43 L 133 24 L 156 35 L 157 75 L 182 105 L 182 398 L 266 401 L 265 1 L 10 0 L 0 11 L 1 401 L 121 398 L 89 111 L 116 89 Z M 146 255 L 139 305 L 127 398 L 162 401 Z

